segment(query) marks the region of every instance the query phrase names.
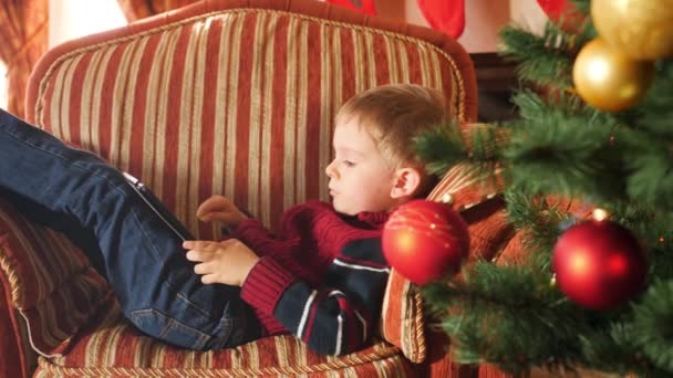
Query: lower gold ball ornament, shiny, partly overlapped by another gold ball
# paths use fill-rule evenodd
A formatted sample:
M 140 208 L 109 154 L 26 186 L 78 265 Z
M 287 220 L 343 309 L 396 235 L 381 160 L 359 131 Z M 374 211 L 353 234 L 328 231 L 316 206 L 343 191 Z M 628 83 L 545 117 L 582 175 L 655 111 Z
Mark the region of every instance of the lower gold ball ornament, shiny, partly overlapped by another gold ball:
M 608 112 L 638 104 L 653 78 L 653 62 L 632 60 L 600 38 L 582 48 L 572 67 L 572 80 L 580 97 Z

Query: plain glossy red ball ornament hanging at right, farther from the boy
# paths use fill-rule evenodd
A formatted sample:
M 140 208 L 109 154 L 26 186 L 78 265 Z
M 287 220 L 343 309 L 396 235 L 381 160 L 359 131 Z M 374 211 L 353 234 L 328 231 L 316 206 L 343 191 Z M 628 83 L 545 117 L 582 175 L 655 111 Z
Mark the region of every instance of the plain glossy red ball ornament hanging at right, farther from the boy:
M 607 309 L 641 291 L 648 270 L 633 234 L 609 220 L 591 220 L 568 229 L 552 256 L 556 282 L 574 303 Z

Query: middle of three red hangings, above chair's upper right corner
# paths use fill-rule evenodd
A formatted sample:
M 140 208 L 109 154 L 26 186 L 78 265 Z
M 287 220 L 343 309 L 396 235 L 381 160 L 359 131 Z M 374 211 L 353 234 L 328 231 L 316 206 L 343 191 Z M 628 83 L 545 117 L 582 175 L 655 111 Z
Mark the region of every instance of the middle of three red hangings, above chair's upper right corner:
M 441 32 L 458 38 L 465 30 L 465 0 L 416 0 L 427 23 Z

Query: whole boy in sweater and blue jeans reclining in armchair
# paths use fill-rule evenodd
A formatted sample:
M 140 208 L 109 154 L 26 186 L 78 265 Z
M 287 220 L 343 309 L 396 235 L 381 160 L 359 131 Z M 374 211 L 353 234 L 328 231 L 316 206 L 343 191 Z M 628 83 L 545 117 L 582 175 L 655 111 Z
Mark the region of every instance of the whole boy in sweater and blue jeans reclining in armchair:
M 226 199 L 211 198 L 199 217 L 226 221 L 239 239 L 186 242 L 196 266 L 182 248 L 193 238 L 148 207 L 137 182 L 2 111 L 0 188 L 90 229 L 99 249 L 85 252 L 102 261 L 124 315 L 151 336 L 217 349 L 289 329 L 319 353 L 349 353 L 373 330 L 383 300 L 380 228 L 389 211 L 427 187 L 406 151 L 411 137 L 443 117 L 442 101 L 417 86 L 358 96 L 336 117 L 336 159 L 327 168 L 333 210 L 346 217 L 308 202 L 284 214 L 286 232 L 276 239 Z

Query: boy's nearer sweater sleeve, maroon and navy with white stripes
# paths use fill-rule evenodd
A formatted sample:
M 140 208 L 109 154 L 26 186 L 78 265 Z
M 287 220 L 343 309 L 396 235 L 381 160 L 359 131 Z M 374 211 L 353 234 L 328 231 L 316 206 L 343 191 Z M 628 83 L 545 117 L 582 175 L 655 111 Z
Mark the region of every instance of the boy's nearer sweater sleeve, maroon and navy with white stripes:
M 309 285 L 291 273 L 296 270 L 287 267 L 288 261 L 281 264 L 277 256 L 267 255 L 250 271 L 241 297 L 258 312 L 272 315 L 314 351 L 351 353 L 375 330 L 390 274 L 380 231 L 353 228 L 324 207 L 310 219 L 310 224 L 299 225 L 315 239 L 312 253 L 336 251 L 328 261 L 322 284 Z

